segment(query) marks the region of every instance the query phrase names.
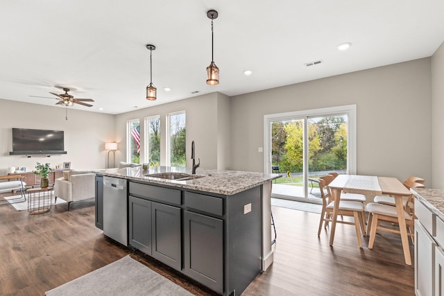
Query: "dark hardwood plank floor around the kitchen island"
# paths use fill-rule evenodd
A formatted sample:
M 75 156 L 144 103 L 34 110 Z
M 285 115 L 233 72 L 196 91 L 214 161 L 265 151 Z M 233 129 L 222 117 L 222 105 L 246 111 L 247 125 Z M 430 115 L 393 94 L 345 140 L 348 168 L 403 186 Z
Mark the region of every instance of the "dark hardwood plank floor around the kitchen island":
M 274 263 L 243 295 L 414 295 L 413 266 L 404 264 L 397 234 L 378 234 L 373 250 L 364 238 L 359 249 L 355 227 L 339 224 L 330 247 L 328 228 L 316 235 L 319 214 L 273 207 L 273 216 Z M 73 202 L 70 211 L 66 204 L 53 205 L 42 215 L 0 207 L 0 295 L 44 295 L 126 254 L 195 295 L 211 295 L 175 270 L 105 238 L 94 226 L 94 200 Z

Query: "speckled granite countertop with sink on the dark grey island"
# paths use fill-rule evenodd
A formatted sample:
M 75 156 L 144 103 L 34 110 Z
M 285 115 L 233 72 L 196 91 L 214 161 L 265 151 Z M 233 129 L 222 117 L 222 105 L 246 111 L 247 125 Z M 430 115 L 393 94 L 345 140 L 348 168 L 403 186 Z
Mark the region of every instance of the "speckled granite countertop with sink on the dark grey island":
M 241 191 L 271 182 L 281 177 L 280 174 L 264 174 L 244 171 L 218 171 L 198 168 L 196 175 L 203 176 L 192 180 L 166 180 L 148 175 L 155 173 L 188 173 L 191 168 L 172 166 L 151 166 L 144 171 L 142 166 L 135 168 L 108 168 L 95 171 L 97 175 L 120 177 L 128 180 L 142 181 L 153 184 L 176 186 L 185 189 L 233 195 Z

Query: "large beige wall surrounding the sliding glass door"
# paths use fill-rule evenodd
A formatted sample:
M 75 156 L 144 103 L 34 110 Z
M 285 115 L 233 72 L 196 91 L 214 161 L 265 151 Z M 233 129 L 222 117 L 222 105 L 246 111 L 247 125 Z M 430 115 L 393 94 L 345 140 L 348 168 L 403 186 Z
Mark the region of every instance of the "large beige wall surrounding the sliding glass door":
M 263 171 L 257 148 L 264 146 L 264 114 L 352 104 L 357 173 L 400 180 L 417 175 L 430 186 L 430 58 L 232 97 L 231 168 Z

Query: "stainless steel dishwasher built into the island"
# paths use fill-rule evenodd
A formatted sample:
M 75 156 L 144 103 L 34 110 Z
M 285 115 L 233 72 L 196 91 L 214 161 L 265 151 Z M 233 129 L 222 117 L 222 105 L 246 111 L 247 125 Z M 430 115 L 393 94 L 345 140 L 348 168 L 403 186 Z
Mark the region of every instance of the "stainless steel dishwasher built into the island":
M 126 179 L 103 177 L 103 234 L 128 245 Z

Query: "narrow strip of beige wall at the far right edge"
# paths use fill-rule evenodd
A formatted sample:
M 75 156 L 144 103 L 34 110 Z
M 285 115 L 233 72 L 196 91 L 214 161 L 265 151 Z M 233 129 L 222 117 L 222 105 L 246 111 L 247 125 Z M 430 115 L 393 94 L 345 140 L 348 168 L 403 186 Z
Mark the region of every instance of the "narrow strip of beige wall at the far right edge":
M 432 57 L 432 188 L 444 189 L 444 43 Z

